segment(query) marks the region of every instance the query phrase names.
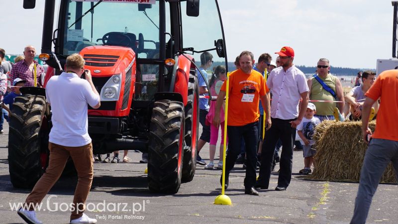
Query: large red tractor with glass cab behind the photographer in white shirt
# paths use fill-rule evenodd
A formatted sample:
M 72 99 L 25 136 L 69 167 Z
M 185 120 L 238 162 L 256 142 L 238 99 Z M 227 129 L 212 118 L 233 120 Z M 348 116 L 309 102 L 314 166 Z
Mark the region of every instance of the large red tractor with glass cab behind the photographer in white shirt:
M 217 0 L 201 1 L 200 14 L 199 0 L 44 4 L 40 59 L 51 67 L 44 87 L 50 74 L 61 73 L 68 55 L 81 54 L 101 98 L 101 107 L 88 111 L 93 153 L 148 152 L 149 189 L 178 192 L 195 175 L 199 134 L 197 66 L 187 52 L 213 52 L 213 60 L 226 66 Z M 24 0 L 24 8 L 34 6 Z M 51 110 L 44 88 L 21 92 L 9 123 L 9 173 L 14 187 L 31 188 L 48 166 Z

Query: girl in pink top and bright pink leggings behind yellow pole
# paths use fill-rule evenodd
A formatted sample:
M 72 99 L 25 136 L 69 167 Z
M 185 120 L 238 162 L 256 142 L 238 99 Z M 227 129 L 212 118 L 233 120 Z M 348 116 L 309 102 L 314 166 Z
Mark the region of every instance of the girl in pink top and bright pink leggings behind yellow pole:
M 214 74 L 210 79 L 210 93 L 211 96 L 217 96 L 220 92 L 220 88 L 226 79 L 226 70 L 224 66 L 217 66 L 215 68 Z M 210 110 L 206 116 L 206 123 L 212 124 L 213 116 L 215 113 L 215 104 L 216 101 L 210 101 Z M 217 169 L 222 169 L 222 156 L 223 156 L 223 148 L 224 148 L 224 107 L 220 111 L 221 118 L 221 145 L 220 145 L 220 158 L 217 164 Z M 217 144 L 218 139 L 218 127 L 214 125 L 210 125 L 210 146 L 209 146 L 209 157 L 210 162 L 204 166 L 204 169 L 213 169 L 214 168 L 214 154 L 215 154 L 215 146 Z M 228 140 L 227 140 L 228 142 Z

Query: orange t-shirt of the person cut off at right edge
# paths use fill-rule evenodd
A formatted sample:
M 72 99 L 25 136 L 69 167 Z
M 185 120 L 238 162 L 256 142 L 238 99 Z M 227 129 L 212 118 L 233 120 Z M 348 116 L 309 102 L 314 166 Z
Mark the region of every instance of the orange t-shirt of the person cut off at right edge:
M 380 97 L 372 138 L 398 141 L 398 70 L 382 72 L 365 96 L 375 101 Z

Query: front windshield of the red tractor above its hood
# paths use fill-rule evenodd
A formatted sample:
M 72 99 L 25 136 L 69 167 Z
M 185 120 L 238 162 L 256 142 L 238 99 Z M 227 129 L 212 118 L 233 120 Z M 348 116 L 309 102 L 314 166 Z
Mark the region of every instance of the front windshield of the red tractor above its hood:
M 159 58 L 159 1 L 150 4 L 69 0 L 63 54 L 94 45 L 130 47 L 138 58 Z

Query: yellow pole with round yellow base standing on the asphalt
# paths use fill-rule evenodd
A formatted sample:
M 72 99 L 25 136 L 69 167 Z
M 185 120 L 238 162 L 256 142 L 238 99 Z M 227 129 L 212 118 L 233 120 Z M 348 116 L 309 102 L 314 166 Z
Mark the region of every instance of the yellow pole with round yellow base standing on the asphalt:
M 228 95 L 229 95 L 229 72 L 227 73 L 226 78 L 226 92 L 225 92 L 225 118 L 224 118 L 224 148 L 222 155 L 222 186 L 221 186 L 221 195 L 218 195 L 215 200 L 215 205 L 231 205 L 231 199 L 226 196 L 225 193 L 225 154 L 227 148 L 227 118 L 228 118 Z

